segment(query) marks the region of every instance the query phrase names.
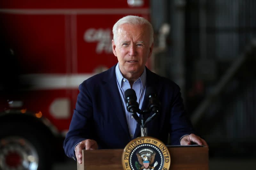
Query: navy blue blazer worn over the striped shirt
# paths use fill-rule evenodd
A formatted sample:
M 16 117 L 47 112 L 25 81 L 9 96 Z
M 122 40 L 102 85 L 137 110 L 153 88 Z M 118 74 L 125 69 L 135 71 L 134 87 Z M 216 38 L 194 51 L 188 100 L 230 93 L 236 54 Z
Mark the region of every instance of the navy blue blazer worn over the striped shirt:
M 115 66 L 85 80 L 79 85 L 76 109 L 70 123 L 63 147 L 68 157 L 75 157 L 74 146 L 85 140 L 94 139 L 99 149 L 124 148 L 132 139 L 140 137 L 140 125 L 131 138 L 125 112 L 116 83 Z M 184 110 L 180 88 L 171 80 L 158 76 L 146 68 L 146 88 L 157 90 L 161 108 L 148 123 L 148 136 L 167 143 L 170 133 L 171 144 L 180 144 L 180 137 L 195 133 Z M 141 110 L 148 107 L 146 97 Z M 146 114 L 145 118 L 151 114 Z

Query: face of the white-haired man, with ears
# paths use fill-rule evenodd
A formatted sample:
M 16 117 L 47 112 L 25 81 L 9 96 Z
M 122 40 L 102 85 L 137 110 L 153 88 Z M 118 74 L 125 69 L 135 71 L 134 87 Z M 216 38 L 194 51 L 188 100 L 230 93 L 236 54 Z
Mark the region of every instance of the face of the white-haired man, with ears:
M 142 74 L 152 54 L 153 44 L 149 44 L 149 41 L 150 35 L 146 25 L 119 26 L 116 42 L 112 40 L 112 48 L 125 78 L 139 78 Z

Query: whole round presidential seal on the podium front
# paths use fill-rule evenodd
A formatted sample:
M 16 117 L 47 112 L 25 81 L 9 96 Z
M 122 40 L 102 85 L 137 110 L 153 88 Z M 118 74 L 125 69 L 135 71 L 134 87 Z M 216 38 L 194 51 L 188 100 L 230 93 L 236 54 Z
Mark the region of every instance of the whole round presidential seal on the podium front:
M 153 137 L 138 137 L 129 142 L 122 155 L 124 170 L 169 170 L 168 148 Z

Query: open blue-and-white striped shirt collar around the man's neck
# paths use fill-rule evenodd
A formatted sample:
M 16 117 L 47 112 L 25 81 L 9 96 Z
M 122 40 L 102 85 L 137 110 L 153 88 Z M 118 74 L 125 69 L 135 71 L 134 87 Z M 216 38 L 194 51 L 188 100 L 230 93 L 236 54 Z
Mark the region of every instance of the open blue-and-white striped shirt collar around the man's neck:
M 141 82 L 141 86 L 144 90 L 145 86 L 146 86 L 146 77 L 147 77 L 147 73 L 146 73 L 146 67 L 144 66 L 144 70 L 143 73 L 141 74 L 141 76 L 135 81 L 140 81 Z M 122 88 L 123 85 L 123 80 L 127 80 L 126 78 L 123 77 L 120 69 L 119 69 L 119 63 L 116 64 L 116 79 L 117 82 L 119 84 L 119 87 Z

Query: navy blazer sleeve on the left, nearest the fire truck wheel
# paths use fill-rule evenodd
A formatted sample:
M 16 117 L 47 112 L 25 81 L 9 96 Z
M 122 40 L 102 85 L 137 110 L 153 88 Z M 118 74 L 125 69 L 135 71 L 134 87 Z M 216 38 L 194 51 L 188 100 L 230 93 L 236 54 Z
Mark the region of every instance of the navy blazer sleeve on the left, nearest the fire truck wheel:
M 85 139 L 92 139 L 93 134 L 92 99 L 85 84 L 79 85 L 79 94 L 76 101 L 69 130 L 63 143 L 65 154 L 75 159 L 74 147 Z

